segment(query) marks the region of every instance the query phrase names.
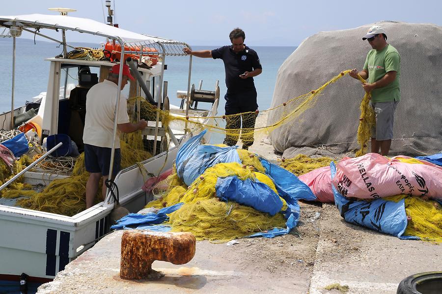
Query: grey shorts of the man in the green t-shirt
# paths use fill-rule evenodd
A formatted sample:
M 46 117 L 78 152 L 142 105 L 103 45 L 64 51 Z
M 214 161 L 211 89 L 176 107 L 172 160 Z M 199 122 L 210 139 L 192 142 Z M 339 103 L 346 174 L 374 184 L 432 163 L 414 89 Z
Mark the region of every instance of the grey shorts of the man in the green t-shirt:
M 376 139 L 376 141 L 393 139 L 393 122 L 396 106 L 396 101 L 371 103 L 376 117 L 376 127 L 371 129 L 371 137 Z

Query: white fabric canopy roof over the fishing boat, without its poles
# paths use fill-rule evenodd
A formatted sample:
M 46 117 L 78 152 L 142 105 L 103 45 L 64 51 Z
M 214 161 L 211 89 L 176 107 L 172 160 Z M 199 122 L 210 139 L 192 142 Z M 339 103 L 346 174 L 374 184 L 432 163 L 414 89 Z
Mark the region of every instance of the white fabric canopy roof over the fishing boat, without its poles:
M 144 34 L 135 33 L 126 29 L 119 29 L 107 24 L 103 24 L 87 18 L 79 18 L 63 15 L 46 15 L 46 14 L 27 14 L 27 15 L 10 15 L 0 16 L 0 26 L 7 21 L 17 21 L 25 25 L 26 28 L 33 29 L 66 29 L 83 33 L 99 35 L 111 39 L 121 39 L 124 44 L 128 45 L 147 45 L 163 44 L 169 47 L 164 50 L 167 54 L 183 55 L 182 48 L 186 46 L 184 42 L 152 37 Z M 179 48 L 172 48 L 178 45 Z M 157 46 L 154 46 L 157 47 Z M 160 46 L 161 47 L 161 46 Z M 160 49 L 159 52 L 163 51 Z M 170 52 L 172 51 L 172 52 Z

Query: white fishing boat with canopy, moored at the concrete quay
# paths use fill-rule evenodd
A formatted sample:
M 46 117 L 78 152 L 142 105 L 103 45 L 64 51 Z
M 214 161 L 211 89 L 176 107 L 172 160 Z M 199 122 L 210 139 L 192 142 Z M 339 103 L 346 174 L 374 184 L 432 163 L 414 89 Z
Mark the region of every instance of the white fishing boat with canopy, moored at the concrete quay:
M 74 142 L 77 140 L 75 134 L 69 131 L 69 126 L 75 123 L 73 122 L 72 105 L 69 107 L 69 101 L 71 100 L 72 103 L 72 93 L 74 93 L 77 83 L 72 77 L 79 76 L 79 82 L 83 81 L 89 85 L 101 82 L 106 78 L 110 68 L 116 64 L 115 62 L 125 60 L 127 56 L 140 58 L 147 55 L 148 59 L 155 60 L 148 66 L 138 66 L 138 68 L 138 62 L 128 61 L 132 74 L 136 77 L 136 80 L 126 87 L 130 91 L 129 97 L 141 95 L 146 100 L 151 100 L 151 103 L 155 103 L 159 109 L 169 110 L 173 116 L 199 117 L 199 122 L 203 124 L 208 123 L 209 117 L 216 115 L 219 101 L 218 83 L 214 91 L 203 91 L 199 88 L 198 95 L 198 89 L 195 90 L 194 86 L 191 86 L 192 56 L 189 57 L 188 76 L 183 77 L 183 79 L 187 78 L 187 90 L 177 93 L 180 98 L 177 101 L 180 105 L 173 106 L 168 102 L 167 83 L 164 81 L 165 60 L 168 57 L 186 58 L 183 48 L 190 46 L 185 42 L 152 37 L 90 19 L 67 16 L 67 12 L 72 11 L 70 9 L 56 10 L 61 15 L 0 16 L 1 37 L 12 39 L 14 59 L 11 69 L 13 76 L 11 111 L 0 117 L 0 120 L 4 121 L 4 126 L 13 129 L 15 127 L 14 118 L 24 114 L 27 110 L 26 106 L 18 108 L 14 106 L 15 43 L 22 31 L 46 37 L 63 46 L 61 56 L 45 59 L 50 64 L 46 94 L 40 95 L 39 101 L 35 102 L 39 104 L 36 116 L 29 118 L 22 124 L 31 124 L 36 129 L 37 140 L 40 140 L 41 143 L 47 136 L 55 134 L 67 134 L 72 137 Z M 50 34 L 46 34 L 46 31 L 59 32 L 61 40 L 56 40 Z M 68 59 L 68 49 L 72 46 L 66 40 L 66 31 L 94 35 L 101 38 L 100 40 L 106 38 L 113 50 L 117 51 L 117 55 L 113 56 L 112 61 Z M 117 50 L 115 50 L 116 47 L 118 47 Z M 119 88 L 123 63 L 120 62 Z M 80 70 L 84 67 L 88 67 L 90 70 L 85 75 Z M 42 70 L 42 72 L 44 71 Z M 196 103 L 193 107 L 191 106 L 191 102 L 198 102 L 198 97 L 199 101 L 206 102 L 204 105 L 207 105 L 207 109 L 200 109 L 202 103 L 198 108 Z M 85 105 L 85 93 L 83 92 L 77 98 L 76 103 L 81 108 Z M 118 105 L 120 93 L 117 94 L 116 99 L 115 105 Z M 117 120 L 115 119 L 115 121 Z M 76 129 L 79 129 L 78 125 Z M 162 171 L 172 167 L 178 148 L 201 130 L 201 127 L 189 129 L 187 123 L 184 122 L 171 124 L 167 130 L 162 127 L 158 116 L 156 121 L 149 121 L 148 127 L 142 131 L 142 135 L 146 140 L 153 140 L 154 156 L 138 165 L 121 170 L 115 177 L 114 182 L 119 192 L 119 204 L 130 212 L 137 212 L 149 202 L 151 196 L 141 189 L 146 177 L 142 175 L 139 165 L 142 165 L 149 175 L 158 176 Z M 115 134 L 116 122 L 114 125 Z M 170 142 L 170 144 L 165 144 L 165 142 Z M 80 142 L 76 143 L 80 144 Z M 113 154 L 114 148 L 112 148 L 112 156 Z M 111 171 L 110 174 L 112 174 Z M 25 173 L 25 181 L 31 184 L 47 185 L 59 177 L 63 176 L 35 171 L 26 171 Z M 65 265 L 108 233 L 109 216 L 114 205 L 115 201 L 111 197 L 109 189 L 104 202 L 74 216 L 31 210 L 14 206 L 11 203 L 5 205 L 5 202 L 2 203 L 0 198 L 0 280 L 18 280 L 22 273 L 29 276 L 29 281 L 46 282 L 52 280 L 58 271 L 64 269 Z

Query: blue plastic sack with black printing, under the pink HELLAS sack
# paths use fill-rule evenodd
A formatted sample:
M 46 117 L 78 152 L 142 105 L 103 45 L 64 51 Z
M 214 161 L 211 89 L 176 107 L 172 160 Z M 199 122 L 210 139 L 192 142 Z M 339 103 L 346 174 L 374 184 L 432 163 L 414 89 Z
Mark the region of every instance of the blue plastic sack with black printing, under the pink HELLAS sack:
M 330 164 L 331 178 L 336 175 L 336 166 Z M 401 239 L 419 239 L 416 236 L 404 236 L 407 228 L 405 200 L 399 202 L 376 199 L 371 202 L 350 200 L 342 196 L 331 185 L 334 203 L 341 216 L 349 223 L 366 227 L 377 232 L 394 235 Z

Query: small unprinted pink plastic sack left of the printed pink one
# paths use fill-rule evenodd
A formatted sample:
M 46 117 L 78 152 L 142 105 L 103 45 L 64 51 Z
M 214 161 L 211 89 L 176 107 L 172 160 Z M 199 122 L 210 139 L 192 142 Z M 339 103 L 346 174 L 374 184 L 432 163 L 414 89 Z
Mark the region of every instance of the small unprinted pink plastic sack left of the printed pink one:
M 331 190 L 330 166 L 313 170 L 298 176 L 298 178 L 311 189 L 319 202 L 334 203 L 333 191 Z

